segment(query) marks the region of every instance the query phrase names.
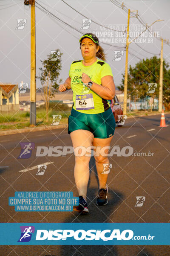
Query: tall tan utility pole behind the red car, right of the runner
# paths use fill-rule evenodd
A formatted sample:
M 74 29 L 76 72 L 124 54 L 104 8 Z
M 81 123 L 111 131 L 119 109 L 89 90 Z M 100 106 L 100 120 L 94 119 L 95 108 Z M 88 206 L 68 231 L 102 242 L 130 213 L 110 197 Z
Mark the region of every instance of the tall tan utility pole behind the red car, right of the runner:
M 125 62 L 125 81 L 124 81 L 124 102 L 123 102 L 123 114 L 126 115 L 127 108 L 127 75 L 128 75 L 128 48 L 129 48 L 129 20 L 130 9 L 128 9 L 127 17 L 127 37 L 126 37 L 126 62 Z

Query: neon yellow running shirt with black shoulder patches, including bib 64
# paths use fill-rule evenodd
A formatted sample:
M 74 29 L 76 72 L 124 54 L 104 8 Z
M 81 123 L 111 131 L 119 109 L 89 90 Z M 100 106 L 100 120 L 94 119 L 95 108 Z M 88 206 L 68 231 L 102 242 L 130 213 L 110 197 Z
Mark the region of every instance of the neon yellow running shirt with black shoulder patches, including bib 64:
M 97 114 L 110 108 L 107 99 L 103 99 L 93 90 L 82 83 L 82 73 L 87 74 L 91 81 L 101 84 L 103 76 L 113 76 L 111 67 L 105 61 L 97 59 L 90 66 L 81 61 L 73 61 L 69 70 L 71 89 L 73 90 L 73 108 L 81 113 Z

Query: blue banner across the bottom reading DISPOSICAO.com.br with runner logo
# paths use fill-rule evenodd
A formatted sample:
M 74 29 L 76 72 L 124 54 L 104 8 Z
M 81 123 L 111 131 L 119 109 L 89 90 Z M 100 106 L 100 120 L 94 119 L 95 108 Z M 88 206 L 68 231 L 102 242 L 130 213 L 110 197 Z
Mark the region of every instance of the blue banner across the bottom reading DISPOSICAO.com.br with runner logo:
M 1 245 L 170 245 L 170 223 L 0 223 Z

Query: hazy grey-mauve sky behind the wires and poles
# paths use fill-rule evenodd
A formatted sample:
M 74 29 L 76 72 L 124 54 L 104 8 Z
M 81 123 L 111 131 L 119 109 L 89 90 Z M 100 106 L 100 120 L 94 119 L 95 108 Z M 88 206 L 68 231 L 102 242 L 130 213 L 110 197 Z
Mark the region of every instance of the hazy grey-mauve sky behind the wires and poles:
M 47 58 L 52 50 L 59 49 L 62 55 L 62 70 L 60 78 L 65 81 L 72 61 L 81 60 L 79 38 L 88 32 L 94 32 L 106 54 L 106 62 L 110 64 L 116 86 L 121 84 L 122 73 L 125 72 L 125 43 L 127 26 L 127 12 L 120 8 L 119 0 L 36 0 L 49 12 L 60 20 L 56 20 L 42 10 L 36 3 L 36 73 L 40 74 L 41 60 Z M 142 23 L 148 26 L 156 20 L 163 20 L 153 24 L 150 29 L 156 32 L 144 32 L 139 36 L 138 45 L 129 45 L 128 66 L 132 67 L 141 59 L 160 57 L 160 38 L 170 40 L 170 0 L 124 0 L 124 5 L 130 9 L 130 16 L 138 14 Z M 42 8 L 42 7 L 40 7 Z M 89 21 L 89 27 L 83 26 L 82 19 Z M 26 22 L 23 29 L 17 28 L 17 19 Z M 31 8 L 24 5 L 24 0 L 0 0 L 0 82 L 18 84 L 21 81 L 30 87 L 30 28 Z M 102 26 L 114 30 L 105 29 Z M 82 29 L 81 29 L 82 28 Z M 136 17 L 130 17 L 130 37 L 136 38 L 145 27 Z M 147 34 L 145 34 L 147 33 Z M 111 44 L 111 45 L 108 45 Z M 119 56 L 118 52 L 119 51 Z M 121 51 L 121 52 L 120 52 Z M 132 55 L 131 55 L 132 54 Z M 170 63 L 170 45 L 164 44 L 163 58 Z M 37 87 L 40 87 L 37 80 Z

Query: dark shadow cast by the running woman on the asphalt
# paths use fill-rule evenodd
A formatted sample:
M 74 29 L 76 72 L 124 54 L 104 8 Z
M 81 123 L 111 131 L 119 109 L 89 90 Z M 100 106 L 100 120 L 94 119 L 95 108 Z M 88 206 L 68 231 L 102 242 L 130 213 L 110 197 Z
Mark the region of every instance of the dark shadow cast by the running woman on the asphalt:
M 96 166 L 95 166 L 95 159 L 91 157 L 90 163 L 90 179 L 88 183 L 88 208 L 89 208 L 89 215 L 80 215 L 77 212 L 73 212 L 74 216 L 71 215 L 69 218 L 66 218 L 64 222 L 82 222 L 82 223 L 91 223 L 91 222 L 112 222 L 112 219 L 109 217 L 114 209 L 116 208 L 117 204 L 123 197 L 122 194 L 118 191 L 113 192 L 109 190 L 108 198 L 109 203 L 105 206 L 97 206 L 96 205 L 96 196 L 98 194 L 98 187 L 94 187 L 91 183 L 94 181 L 94 177 L 91 178 L 92 170 L 95 172 L 95 177 L 98 182 Z M 100 228 L 100 227 L 99 227 Z M 111 256 L 118 256 L 116 247 L 110 246 L 99 246 L 99 245 L 65 245 L 59 246 L 59 254 L 60 256 L 99 256 L 99 255 L 111 255 Z

